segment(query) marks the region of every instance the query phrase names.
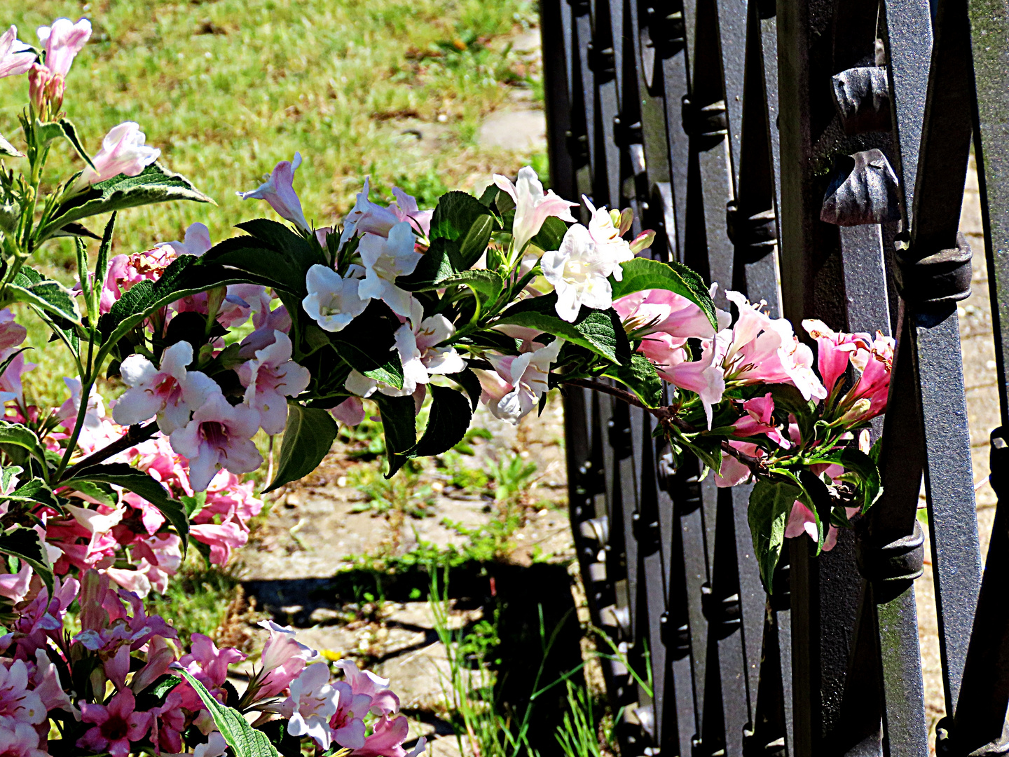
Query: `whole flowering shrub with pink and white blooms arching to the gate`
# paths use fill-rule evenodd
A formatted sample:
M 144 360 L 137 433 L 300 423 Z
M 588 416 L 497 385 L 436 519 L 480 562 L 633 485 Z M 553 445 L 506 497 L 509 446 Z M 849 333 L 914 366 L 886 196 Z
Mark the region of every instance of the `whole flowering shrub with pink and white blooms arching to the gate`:
M 654 418 L 673 466 L 693 454 L 719 485 L 756 480 L 750 523 L 769 587 L 785 537 L 808 533 L 829 549 L 835 528 L 879 496 L 866 427 L 885 410 L 892 340 L 807 321 L 814 364 L 763 303 L 726 292 L 733 313 L 716 308 L 716 285 L 643 256 L 653 234 L 630 211 L 587 198 L 581 209 L 530 168 L 430 210 L 399 190 L 376 203 L 365 180 L 347 217 L 318 226 L 294 189 L 296 154 L 237 193 L 288 224 L 250 220 L 213 244 L 195 222 L 182 241 L 113 256 L 119 212 L 209 198 L 158 165 L 135 123 L 89 154 L 62 109 L 90 33 L 87 20 L 58 19 L 38 29 L 37 48 L 14 27 L 0 36 L 0 78 L 28 79 L 24 152 L 0 139 L 16 167 L 0 172 L 0 611 L 12 629 L 0 757 L 184 743 L 204 757 L 228 746 L 297 754 L 299 739 L 405 756 L 406 719 L 386 682 L 347 663 L 331 682 L 290 629 L 267 624 L 239 695 L 226 677 L 241 653 L 197 634 L 182 654 L 171 626 L 144 615 L 141 598 L 164 590 L 191 544 L 223 563 L 245 542 L 261 503 L 241 476 L 262 463 L 260 430 L 284 434 L 269 491 L 315 469 L 338 422 L 381 417 L 391 476 L 458 443 L 479 403 L 518 423 L 551 388 L 602 392 Z M 49 150 L 68 145 L 82 170 L 45 176 Z M 96 216 L 108 217 L 100 236 L 83 223 Z M 76 239 L 73 291 L 28 264 L 58 236 Z M 77 366 L 59 409 L 23 396 L 31 366 L 14 303 Z M 100 376 L 125 390 L 111 417 Z M 75 599 L 82 630 L 71 635 Z M 250 726 L 242 714 L 253 711 Z

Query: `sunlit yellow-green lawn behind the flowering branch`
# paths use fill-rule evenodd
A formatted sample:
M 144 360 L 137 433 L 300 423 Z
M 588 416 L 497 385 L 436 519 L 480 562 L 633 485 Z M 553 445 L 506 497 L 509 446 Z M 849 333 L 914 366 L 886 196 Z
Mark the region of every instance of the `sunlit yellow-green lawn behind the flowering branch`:
M 64 105 L 88 148 L 97 152 L 109 128 L 136 121 L 162 165 L 218 203 L 128 211 L 114 252 L 181 239 L 195 221 L 217 241 L 242 220 L 274 217 L 235 191 L 255 188 L 296 151 L 305 163 L 295 186 L 320 226 L 352 206 L 365 174 L 379 196 L 391 199 L 388 188 L 398 185 L 423 206 L 447 188 L 540 157 L 475 139 L 513 87 L 542 91 L 507 39 L 536 23 L 530 0 L 0 1 L 2 24 L 16 24 L 28 42 L 60 16 L 87 16 L 94 26 Z M 26 95 L 25 77 L 0 81 L 0 133 L 15 144 Z M 50 177 L 80 168 L 66 143 L 50 154 Z M 91 225 L 100 232 L 103 222 Z M 71 244 L 49 242 L 32 264 L 71 282 Z M 32 331 L 29 359 L 39 368 L 25 379 L 36 398 L 62 402 L 69 363 L 60 350 L 37 349 L 47 337 Z

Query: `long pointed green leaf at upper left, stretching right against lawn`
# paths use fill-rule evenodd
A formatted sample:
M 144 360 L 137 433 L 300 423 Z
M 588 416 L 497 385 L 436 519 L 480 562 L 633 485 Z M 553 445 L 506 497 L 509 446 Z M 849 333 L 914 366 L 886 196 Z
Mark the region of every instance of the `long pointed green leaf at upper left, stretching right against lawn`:
M 114 176 L 65 201 L 39 230 L 38 241 L 48 239 L 68 223 L 82 218 L 170 200 L 214 202 L 188 180 L 165 171 L 155 163 L 137 176 Z

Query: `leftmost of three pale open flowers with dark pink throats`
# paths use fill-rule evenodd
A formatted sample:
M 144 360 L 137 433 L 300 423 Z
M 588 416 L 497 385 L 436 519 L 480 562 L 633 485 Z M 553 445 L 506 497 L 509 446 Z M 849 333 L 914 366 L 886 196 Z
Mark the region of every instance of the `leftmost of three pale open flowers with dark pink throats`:
M 186 369 L 192 361 L 193 345 L 185 341 L 164 350 L 159 368 L 143 355 L 127 357 L 119 370 L 130 389 L 112 408 L 112 420 L 132 426 L 157 416 L 157 428 L 164 434 L 185 426 L 190 413 L 220 392 L 210 376 Z

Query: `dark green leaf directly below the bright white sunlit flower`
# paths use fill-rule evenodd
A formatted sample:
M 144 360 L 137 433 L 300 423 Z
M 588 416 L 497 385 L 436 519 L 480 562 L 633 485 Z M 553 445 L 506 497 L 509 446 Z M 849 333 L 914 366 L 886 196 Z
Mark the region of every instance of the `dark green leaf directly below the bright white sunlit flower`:
M 631 343 L 621 324 L 620 316 L 612 308 L 592 310 L 583 306 L 574 323 L 568 323 L 554 314 L 555 294 L 551 293 L 533 300 L 544 302 L 537 302 L 536 310 L 513 306 L 494 322 L 495 325 L 511 323 L 516 326 L 526 326 L 554 336 L 562 336 L 610 362 L 625 364 L 631 361 Z

